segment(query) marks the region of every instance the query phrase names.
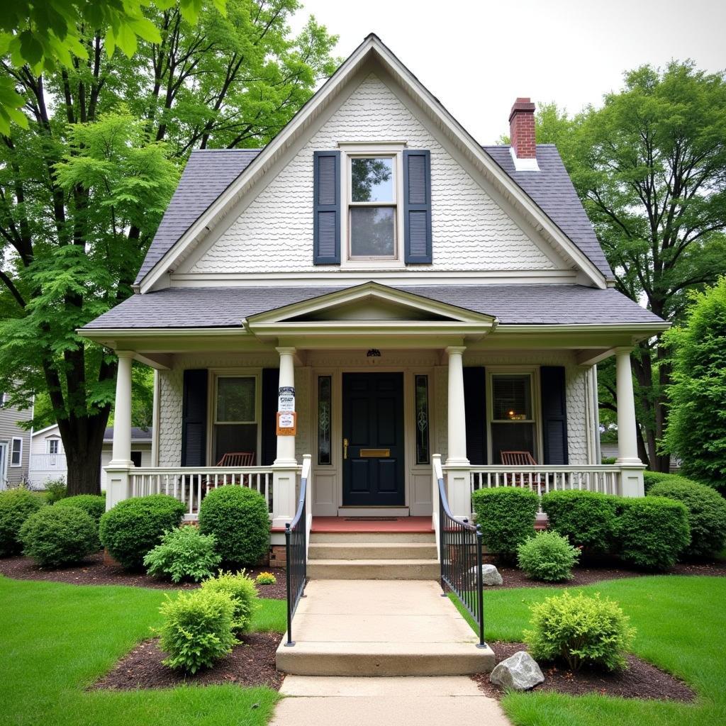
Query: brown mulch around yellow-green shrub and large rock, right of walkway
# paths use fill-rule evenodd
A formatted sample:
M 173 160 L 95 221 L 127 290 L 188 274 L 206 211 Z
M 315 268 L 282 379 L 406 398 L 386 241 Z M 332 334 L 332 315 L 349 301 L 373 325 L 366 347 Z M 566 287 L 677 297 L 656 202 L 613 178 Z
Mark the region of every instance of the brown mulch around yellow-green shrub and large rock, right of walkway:
M 518 650 L 526 650 L 524 643 L 489 643 L 497 663 Z M 659 701 L 681 701 L 690 703 L 696 694 L 684 682 L 671 674 L 661 671 L 656 666 L 643 661 L 637 656 L 627 656 L 628 667 L 617 673 L 606 673 L 591 669 L 582 669 L 573 673 L 566 667 L 552 664 L 539 664 L 544 674 L 544 683 L 535 686 L 532 691 L 557 691 L 569 696 L 617 696 L 619 698 L 644 698 Z M 502 698 L 505 691 L 489 682 L 488 673 L 472 676 L 479 689 L 492 698 Z

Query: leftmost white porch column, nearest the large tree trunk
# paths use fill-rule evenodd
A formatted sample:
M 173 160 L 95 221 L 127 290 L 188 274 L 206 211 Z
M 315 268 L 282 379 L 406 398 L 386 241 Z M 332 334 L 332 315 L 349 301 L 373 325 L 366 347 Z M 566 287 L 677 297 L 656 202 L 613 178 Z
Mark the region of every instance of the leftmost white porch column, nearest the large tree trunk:
M 116 351 L 116 401 L 113 409 L 113 454 L 106 467 L 106 509 L 131 497 L 131 351 Z

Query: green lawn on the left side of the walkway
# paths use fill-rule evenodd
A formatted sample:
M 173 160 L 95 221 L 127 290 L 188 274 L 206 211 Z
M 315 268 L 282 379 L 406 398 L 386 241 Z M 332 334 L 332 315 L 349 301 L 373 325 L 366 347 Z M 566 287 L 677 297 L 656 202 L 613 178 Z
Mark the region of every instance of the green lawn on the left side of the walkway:
M 0 722 L 7 726 L 257 726 L 279 698 L 234 685 L 86 692 L 160 624 L 159 590 L 0 576 Z M 255 630 L 285 631 L 285 600 L 261 600 Z

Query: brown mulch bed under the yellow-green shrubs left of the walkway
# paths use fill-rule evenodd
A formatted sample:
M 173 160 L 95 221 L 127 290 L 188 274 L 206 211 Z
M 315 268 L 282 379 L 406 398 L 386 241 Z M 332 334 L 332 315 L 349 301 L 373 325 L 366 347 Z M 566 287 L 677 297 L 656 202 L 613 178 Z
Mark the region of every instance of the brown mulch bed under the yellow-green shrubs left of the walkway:
M 179 685 L 268 686 L 280 690 L 284 674 L 275 668 L 275 651 L 280 633 L 248 633 L 242 636 L 229 656 L 209 669 L 194 675 L 173 671 L 161 661 L 166 655 L 158 648 L 158 639 L 144 640 L 121 658 L 114 669 L 91 686 L 93 690 L 137 690 L 139 688 L 175 688 Z

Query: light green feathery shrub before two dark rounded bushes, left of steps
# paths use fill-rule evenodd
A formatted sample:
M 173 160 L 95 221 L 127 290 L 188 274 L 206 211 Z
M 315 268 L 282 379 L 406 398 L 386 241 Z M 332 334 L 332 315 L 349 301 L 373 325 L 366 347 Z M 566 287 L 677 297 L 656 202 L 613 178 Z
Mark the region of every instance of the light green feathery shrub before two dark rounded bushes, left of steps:
M 172 529 L 144 557 L 144 567 L 148 574 L 171 578 L 171 582 L 199 582 L 211 576 L 221 562 L 214 550 L 216 543 L 213 534 L 200 534 L 196 527 Z

